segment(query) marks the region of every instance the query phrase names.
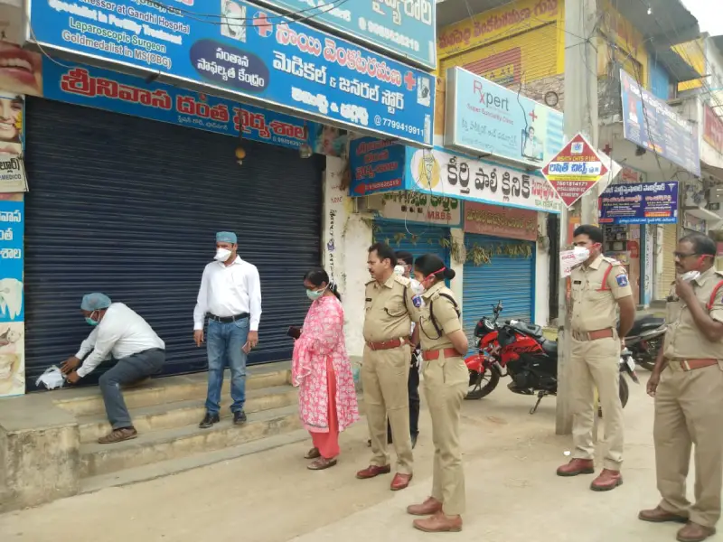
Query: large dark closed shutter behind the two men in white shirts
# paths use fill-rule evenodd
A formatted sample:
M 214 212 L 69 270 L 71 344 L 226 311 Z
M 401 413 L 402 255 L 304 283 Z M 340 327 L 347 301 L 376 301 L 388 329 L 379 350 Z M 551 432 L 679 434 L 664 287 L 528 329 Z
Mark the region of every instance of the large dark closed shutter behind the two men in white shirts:
M 302 278 L 321 261 L 315 159 L 105 111 L 28 98 L 26 376 L 73 355 L 90 332 L 80 298 L 104 292 L 165 341 L 164 374 L 206 369 L 192 313 L 214 234 L 235 231 L 258 266 L 263 316 L 249 363 L 290 358 L 286 328 L 308 308 Z M 95 381 L 108 363 L 94 371 Z

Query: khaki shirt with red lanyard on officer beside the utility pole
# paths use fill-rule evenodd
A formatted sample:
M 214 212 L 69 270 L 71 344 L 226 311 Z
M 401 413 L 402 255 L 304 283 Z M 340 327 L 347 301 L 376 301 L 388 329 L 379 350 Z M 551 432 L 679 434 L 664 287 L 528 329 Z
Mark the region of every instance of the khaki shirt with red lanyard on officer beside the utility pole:
M 610 273 L 604 287 L 607 269 Z M 624 266 L 604 256 L 596 257 L 589 266 L 575 267 L 570 275 L 570 286 L 574 332 L 616 329 L 617 300 L 633 295 Z

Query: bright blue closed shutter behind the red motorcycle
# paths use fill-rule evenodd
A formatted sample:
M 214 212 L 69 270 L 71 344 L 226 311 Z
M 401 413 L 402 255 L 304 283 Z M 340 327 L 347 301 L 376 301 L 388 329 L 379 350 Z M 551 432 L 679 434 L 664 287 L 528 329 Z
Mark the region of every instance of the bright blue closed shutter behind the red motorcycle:
M 474 345 L 474 326 L 483 316 L 492 317 L 493 305 L 502 300 L 500 321 L 533 321 L 535 243 L 465 233 L 469 259 L 474 247 L 484 248 L 491 261 L 480 266 L 468 261 L 464 273 L 462 319 L 465 332 Z M 511 255 L 513 253 L 514 255 Z

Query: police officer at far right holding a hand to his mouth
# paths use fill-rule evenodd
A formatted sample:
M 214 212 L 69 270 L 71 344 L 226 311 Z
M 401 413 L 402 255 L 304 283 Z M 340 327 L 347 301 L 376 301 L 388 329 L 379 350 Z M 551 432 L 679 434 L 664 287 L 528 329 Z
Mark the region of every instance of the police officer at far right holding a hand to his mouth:
M 680 275 L 668 299 L 668 331 L 648 393 L 655 397 L 655 463 L 660 504 L 643 521 L 686 523 L 678 540 L 712 536 L 723 486 L 723 274 L 713 269 L 716 245 L 693 233 L 675 257 Z M 695 443 L 695 504 L 686 496 Z

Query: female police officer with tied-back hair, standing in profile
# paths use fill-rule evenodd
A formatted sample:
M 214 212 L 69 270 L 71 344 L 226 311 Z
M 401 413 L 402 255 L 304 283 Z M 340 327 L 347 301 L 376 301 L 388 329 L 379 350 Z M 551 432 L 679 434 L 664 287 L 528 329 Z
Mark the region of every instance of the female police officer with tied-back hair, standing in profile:
M 465 511 L 465 473 L 459 446 L 459 418 L 467 393 L 469 372 L 463 356 L 468 342 L 459 320 L 454 294 L 445 279 L 455 278 L 439 257 L 425 254 L 414 263 L 414 274 L 425 288 L 418 328 L 422 347 L 424 390 L 432 417 L 435 444 L 432 495 L 421 504 L 409 506 L 415 528 L 426 532 L 462 530 Z

